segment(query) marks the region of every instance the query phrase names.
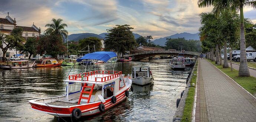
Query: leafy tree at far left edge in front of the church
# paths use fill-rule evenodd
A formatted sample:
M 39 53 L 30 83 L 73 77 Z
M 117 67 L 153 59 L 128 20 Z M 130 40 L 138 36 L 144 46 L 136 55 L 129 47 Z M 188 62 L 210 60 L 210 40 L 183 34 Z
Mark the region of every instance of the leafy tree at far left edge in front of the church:
M 5 60 L 6 52 L 8 49 L 12 50 L 16 48 L 16 50 L 23 49 L 23 42 L 25 41 L 22 37 L 22 28 L 14 28 L 10 35 L 0 33 L 0 48 L 3 51 L 3 61 Z

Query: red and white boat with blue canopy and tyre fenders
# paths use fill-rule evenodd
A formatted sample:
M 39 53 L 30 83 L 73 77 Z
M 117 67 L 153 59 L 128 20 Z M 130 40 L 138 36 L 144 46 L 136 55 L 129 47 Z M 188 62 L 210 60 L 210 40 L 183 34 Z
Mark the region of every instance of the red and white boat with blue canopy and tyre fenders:
M 95 55 L 95 56 L 93 56 Z M 77 60 L 92 59 L 108 61 L 116 57 L 114 52 L 93 52 Z M 101 57 L 101 58 L 97 58 Z M 52 98 L 32 99 L 32 109 L 57 117 L 79 119 L 95 115 L 123 101 L 129 95 L 132 80 L 122 71 L 91 71 L 69 75 L 66 95 Z

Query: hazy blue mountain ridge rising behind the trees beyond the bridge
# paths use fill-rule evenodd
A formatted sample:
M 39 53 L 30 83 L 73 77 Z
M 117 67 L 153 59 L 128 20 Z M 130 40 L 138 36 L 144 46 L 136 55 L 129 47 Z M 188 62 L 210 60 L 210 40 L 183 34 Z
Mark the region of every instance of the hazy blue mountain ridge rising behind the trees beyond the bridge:
M 191 33 L 180 33 L 180 34 L 174 34 L 174 35 L 170 35 L 168 37 L 164 37 L 164 38 L 159 38 L 156 39 L 154 41 L 152 41 L 153 43 L 155 43 L 156 45 L 165 45 L 166 42 L 166 38 L 185 38 L 186 40 L 199 40 L 199 33 L 196 34 L 191 34 Z

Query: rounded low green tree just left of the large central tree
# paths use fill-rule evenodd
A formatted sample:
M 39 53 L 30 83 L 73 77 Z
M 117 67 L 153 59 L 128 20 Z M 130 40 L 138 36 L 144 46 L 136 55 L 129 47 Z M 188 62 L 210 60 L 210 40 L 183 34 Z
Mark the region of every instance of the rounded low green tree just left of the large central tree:
M 90 47 L 90 52 L 94 51 L 92 50 L 93 46 L 95 45 L 95 50 L 100 51 L 101 50 L 101 40 L 96 37 L 89 37 L 89 38 L 84 38 L 82 40 L 79 40 L 78 47 L 80 50 L 82 50 L 84 47 L 88 46 Z

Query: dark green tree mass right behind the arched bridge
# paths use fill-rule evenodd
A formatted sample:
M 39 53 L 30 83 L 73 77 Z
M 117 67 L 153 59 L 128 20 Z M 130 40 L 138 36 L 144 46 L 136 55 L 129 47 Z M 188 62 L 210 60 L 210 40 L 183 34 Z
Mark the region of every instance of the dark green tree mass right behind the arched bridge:
M 201 42 L 197 40 L 185 40 L 185 38 L 166 38 L 166 48 L 175 49 L 175 50 L 185 50 L 185 51 L 194 51 L 200 52 Z

